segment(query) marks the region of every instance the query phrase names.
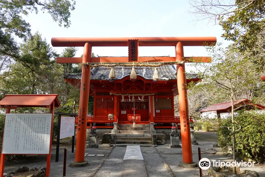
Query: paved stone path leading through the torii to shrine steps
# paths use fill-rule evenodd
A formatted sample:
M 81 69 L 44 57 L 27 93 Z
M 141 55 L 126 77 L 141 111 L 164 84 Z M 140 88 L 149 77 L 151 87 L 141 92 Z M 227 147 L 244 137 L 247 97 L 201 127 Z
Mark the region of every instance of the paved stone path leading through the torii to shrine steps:
M 104 174 L 109 177 L 170 177 L 155 149 L 140 146 L 116 146 L 94 176 Z

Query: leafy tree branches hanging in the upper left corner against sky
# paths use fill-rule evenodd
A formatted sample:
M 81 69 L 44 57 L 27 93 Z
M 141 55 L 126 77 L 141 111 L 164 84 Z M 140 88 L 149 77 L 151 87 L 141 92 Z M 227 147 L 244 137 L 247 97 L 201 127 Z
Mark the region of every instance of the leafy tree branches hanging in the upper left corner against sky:
M 74 10 L 74 0 L 2 0 L 0 1 L 0 54 L 9 55 L 18 60 L 19 47 L 12 35 L 26 40 L 30 37 L 30 24 L 23 16 L 30 12 L 38 13 L 39 9 L 51 15 L 59 26 L 69 27 L 71 24 L 70 11 Z

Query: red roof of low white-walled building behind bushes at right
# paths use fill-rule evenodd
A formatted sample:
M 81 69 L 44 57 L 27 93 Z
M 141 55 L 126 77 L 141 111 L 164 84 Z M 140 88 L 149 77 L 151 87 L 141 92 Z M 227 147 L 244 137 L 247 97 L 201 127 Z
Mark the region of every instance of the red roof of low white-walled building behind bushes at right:
M 250 110 L 250 109 L 255 109 L 255 108 L 265 110 L 265 106 L 261 104 L 253 104 L 252 101 L 250 101 L 249 99 L 236 100 L 233 103 L 233 107 L 236 109 L 236 111 L 241 110 L 241 109 Z M 201 110 L 200 112 L 203 113 L 203 112 L 209 112 L 209 111 L 216 111 L 217 118 L 220 118 L 221 113 L 231 112 L 231 109 L 232 109 L 232 104 L 230 101 L 226 103 L 214 104 L 208 108 Z

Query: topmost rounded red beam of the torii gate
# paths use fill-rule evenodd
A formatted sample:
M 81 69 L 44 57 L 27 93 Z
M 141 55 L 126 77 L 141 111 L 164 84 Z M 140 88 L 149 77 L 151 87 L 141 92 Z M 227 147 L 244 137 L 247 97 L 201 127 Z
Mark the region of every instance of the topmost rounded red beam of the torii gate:
M 90 43 L 93 47 L 128 46 L 128 40 L 138 39 L 139 46 L 175 46 L 182 42 L 184 46 L 203 46 L 216 42 L 216 37 L 53 37 L 53 47 L 83 47 Z

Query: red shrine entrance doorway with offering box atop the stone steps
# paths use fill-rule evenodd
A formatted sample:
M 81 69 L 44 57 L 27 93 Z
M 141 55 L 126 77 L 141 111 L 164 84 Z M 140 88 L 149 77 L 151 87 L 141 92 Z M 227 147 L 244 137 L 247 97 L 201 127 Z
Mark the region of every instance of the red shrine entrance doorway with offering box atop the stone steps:
M 141 100 L 141 96 L 135 96 L 135 101 L 132 102 L 132 96 L 124 96 L 124 102 L 120 99 L 120 121 L 133 122 L 133 115 L 135 115 L 136 122 L 149 120 L 149 102 L 148 96 Z

